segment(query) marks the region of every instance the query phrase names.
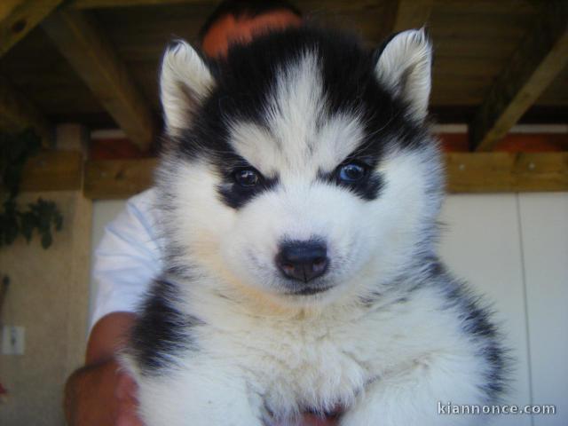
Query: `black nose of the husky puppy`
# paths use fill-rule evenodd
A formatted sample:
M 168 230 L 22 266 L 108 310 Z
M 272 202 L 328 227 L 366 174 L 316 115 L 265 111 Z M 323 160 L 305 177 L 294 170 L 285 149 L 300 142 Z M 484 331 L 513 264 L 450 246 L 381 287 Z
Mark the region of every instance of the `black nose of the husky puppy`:
M 327 271 L 327 248 L 319 241 L 287 241 L 280 245 L 276 264 L 288 278 L 308 282 Z

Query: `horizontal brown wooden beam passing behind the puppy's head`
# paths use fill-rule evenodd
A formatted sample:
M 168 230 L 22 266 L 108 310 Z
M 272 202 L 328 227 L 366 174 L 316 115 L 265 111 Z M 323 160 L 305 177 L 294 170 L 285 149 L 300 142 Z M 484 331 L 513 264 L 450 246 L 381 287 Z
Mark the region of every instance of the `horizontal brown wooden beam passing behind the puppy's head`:
M 448 193 L 568 191 L 568 153 L 450 153 Z M 83 192 L 91 199 L 127 198 L 149 188 L 157 159 L 86 162 Z

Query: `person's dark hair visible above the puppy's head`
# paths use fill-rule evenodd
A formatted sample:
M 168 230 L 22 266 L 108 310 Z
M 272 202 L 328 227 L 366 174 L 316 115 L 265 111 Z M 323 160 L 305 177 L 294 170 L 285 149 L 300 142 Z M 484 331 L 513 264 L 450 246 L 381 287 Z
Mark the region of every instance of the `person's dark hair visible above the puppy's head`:
M 227 15 L 233 15 L 235 18 L 249 17 L 254 18 L 266 12 L 272 11 L 289 11 L 299 18 L 302 18 L 302 12 L 294 4 L 286 0 L 225 0 L 221 2 L 215 11 L 209 15 L 199 31 L 199 40 L 203 41 L 203 37 L 213 26 Z

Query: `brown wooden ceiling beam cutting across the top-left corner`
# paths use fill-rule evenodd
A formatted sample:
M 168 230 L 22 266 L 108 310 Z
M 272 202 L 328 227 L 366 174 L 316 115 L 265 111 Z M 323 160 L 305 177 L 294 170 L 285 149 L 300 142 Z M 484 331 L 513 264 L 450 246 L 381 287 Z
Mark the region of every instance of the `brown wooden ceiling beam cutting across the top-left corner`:
M 0 2 L 0 58 L 63 0 L 2 0 Z

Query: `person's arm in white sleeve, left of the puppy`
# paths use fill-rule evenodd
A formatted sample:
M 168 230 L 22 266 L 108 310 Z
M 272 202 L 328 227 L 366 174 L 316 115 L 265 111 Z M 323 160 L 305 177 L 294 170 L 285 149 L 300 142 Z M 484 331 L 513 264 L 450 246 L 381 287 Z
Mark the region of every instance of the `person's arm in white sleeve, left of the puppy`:
M 140 424 L 122 420 L 134 413 L 136 386 L 118 370 L 115 353 L 126 341 L 138 301 L 162 267 L 154 211 L 152 190 L 131 198 L 106 225 L 95 250 L 85 365 L 69 377 L 65 389 L 65 412 L 72 426 Z

